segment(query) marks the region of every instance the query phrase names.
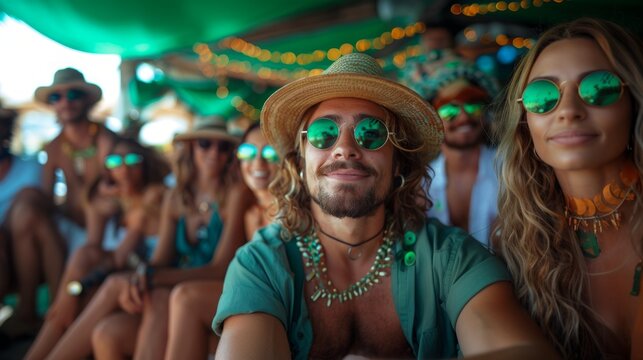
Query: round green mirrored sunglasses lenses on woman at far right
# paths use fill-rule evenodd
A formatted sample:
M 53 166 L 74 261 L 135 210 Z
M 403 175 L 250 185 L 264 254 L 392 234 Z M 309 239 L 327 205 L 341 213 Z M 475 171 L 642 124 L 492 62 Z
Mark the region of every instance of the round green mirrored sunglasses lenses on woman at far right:
M 609 106 L 617 102 L 627 86 L 611 71 L 593 71 L 578 83 L 578 96 L 590 106 Z M 562 90 L 549 79 L 538 79 L 530 82 L 517 101 L 525 110 L 533 114 L 547 114 L 560 103 Z

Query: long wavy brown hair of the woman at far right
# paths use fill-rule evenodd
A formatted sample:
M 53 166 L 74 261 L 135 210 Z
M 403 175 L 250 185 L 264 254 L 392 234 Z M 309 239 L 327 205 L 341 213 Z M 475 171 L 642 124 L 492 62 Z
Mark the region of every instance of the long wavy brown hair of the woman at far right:
M 602 325 L 587 302 L 588 275 L 575 232 L 566 225 L 564 195 L 553 169 L 534 154 L 525 113 L 516 99 L 527 85 L 534 62 L 550 44 L 587 38 L 598 44 L 632 97 L 631 156 L 643 174 L 643 68 L 639 39 L 620 26 L 578 19 L 542 34 L 522 59 L 504 94 L 497 122 L 502 162 L 498 231 L 494 245 L 513 275 L 517 296 L 565 358 L 590 359 L 604 354 Z M 643 248 L 641 205 L 636 190 L 632 218 L 635 248 Z

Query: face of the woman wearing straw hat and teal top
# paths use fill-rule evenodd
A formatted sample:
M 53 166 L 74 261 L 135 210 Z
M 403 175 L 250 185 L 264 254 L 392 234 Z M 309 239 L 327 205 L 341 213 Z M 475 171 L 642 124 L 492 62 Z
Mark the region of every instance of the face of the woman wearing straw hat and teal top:
M 217 178 L 222 175 L 234 146 L 229 141 L 204 138 L 192 141 L 192 147 L 197 171 Z

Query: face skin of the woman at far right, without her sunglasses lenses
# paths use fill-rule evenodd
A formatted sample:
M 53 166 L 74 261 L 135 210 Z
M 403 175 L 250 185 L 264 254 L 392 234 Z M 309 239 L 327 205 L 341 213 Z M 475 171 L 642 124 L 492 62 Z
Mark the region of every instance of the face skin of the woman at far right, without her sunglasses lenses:
M 528 83 L 549 79 L 561 89 L 558 105 L 545 114 L 526 112 L 538 156 L 558 171 L 596 169 L 624 156 L 633 121 L 627 88 L 607 106 L 591 106 L 579 96 L 578 84 L 596 70 L 616 73 L 591 39 L 559 40 L 538 56 Z

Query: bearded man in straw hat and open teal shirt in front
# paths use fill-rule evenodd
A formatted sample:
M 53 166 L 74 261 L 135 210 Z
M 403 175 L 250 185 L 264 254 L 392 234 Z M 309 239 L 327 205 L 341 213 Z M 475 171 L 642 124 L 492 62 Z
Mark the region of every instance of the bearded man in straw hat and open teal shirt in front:
M 503 265 L 425 218 L 417 197 L 442 123 L 375 59 L 346 55 L 282 87 L 261 120 L 284 159 L 280 210 L 228 268 L 220 358 L 552 356 Z

